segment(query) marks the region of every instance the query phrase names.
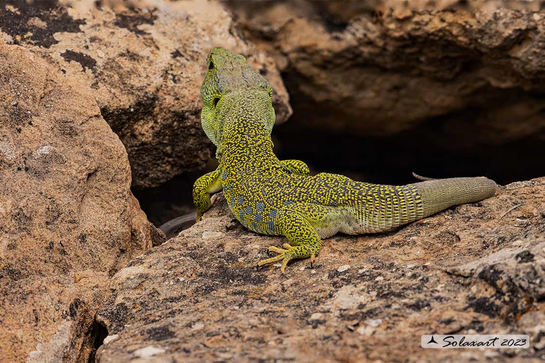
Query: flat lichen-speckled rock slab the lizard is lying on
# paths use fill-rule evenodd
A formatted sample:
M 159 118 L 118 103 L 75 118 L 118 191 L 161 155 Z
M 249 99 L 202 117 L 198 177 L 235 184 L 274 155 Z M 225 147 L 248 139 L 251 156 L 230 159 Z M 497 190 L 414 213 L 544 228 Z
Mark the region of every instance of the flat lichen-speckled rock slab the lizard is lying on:
M 379 235 L 324 241 L 256 269 L 268 245 L 216 200 L 202 222 L 131 261 L 98 313 L 100 363 L 538 361 L 545 358 L 545 178 Z M 524 350 L 420 348 L 421 334 L 529 334 Z

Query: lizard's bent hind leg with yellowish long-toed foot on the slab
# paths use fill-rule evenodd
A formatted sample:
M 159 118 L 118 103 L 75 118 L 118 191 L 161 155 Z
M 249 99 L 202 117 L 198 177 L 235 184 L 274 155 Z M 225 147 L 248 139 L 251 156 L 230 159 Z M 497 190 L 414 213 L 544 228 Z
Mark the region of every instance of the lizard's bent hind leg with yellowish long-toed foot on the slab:
M 331 218 L 332 215 L 337 214 L 334 208 L 319 204 L 299 203 L 282 207 L 276 216 L 276 224 L 290 244 L 284 243 L 283 249 L 269 247 L 269 251 L 278 255 L 259 261 L 257 266 L 281 261 L 280 272 L 283 274 L 288 262 L 293 259 L 310 257 L 312 263 L 322 248 L 318 232 L 324 224 L 329 224 L 334 219 Z

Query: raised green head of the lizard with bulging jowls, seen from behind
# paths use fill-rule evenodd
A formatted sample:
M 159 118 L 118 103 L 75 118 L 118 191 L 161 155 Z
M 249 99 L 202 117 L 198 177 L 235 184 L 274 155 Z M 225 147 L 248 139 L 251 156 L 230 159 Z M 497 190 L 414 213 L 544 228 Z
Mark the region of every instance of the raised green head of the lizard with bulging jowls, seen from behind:
M 272 88 L 269 82 L 246 63 L 244 56 L 222 47 L 212 48 L 208 54 L 207 66 L 208 71 L 201 87 L 203 101 L 201 124 L 208 138 L 217 146 L 216 157 L 221 155 L 222 149 L 224 120 L 220 117 L 220 111 L 223 100 L 230 94 L 249 88 L 263 90 L 268 95 L 268 105 L 270 105 L 270 107 L 267 106 L 263 121 L 270 134 L 275 116 L 271 102 Z

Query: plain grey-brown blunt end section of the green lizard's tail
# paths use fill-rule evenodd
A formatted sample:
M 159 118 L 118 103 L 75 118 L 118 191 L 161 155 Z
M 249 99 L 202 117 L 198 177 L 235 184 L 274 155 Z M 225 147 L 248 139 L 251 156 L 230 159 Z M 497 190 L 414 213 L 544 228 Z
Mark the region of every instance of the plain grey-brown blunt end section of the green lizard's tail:
M 422 199 L 423 217 L 445 208 L 477 202 L 496 192 L 496 183 L 485 177 L 429 180 L 413 184 Z

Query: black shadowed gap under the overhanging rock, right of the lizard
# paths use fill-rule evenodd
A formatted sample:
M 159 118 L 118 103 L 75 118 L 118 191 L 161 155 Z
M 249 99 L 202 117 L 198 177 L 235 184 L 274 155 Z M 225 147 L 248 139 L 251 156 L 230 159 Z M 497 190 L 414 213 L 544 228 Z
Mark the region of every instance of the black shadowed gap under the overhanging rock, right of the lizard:
M 433 178 L 486 176 L 505 185 L 542 176 L 545 170 L 543 143 L 535 137 L 458 150 L 454 137 L 448 147 L 439 147 L 433 137 L 433 127 L 426 125 L 391 137 L 325 132 L 296 122 L 275 132 L 279 158 L 299 158 L 316 173 L 345 174 L 372 183 L 415 182 L 411 174 L 415 172 Z

